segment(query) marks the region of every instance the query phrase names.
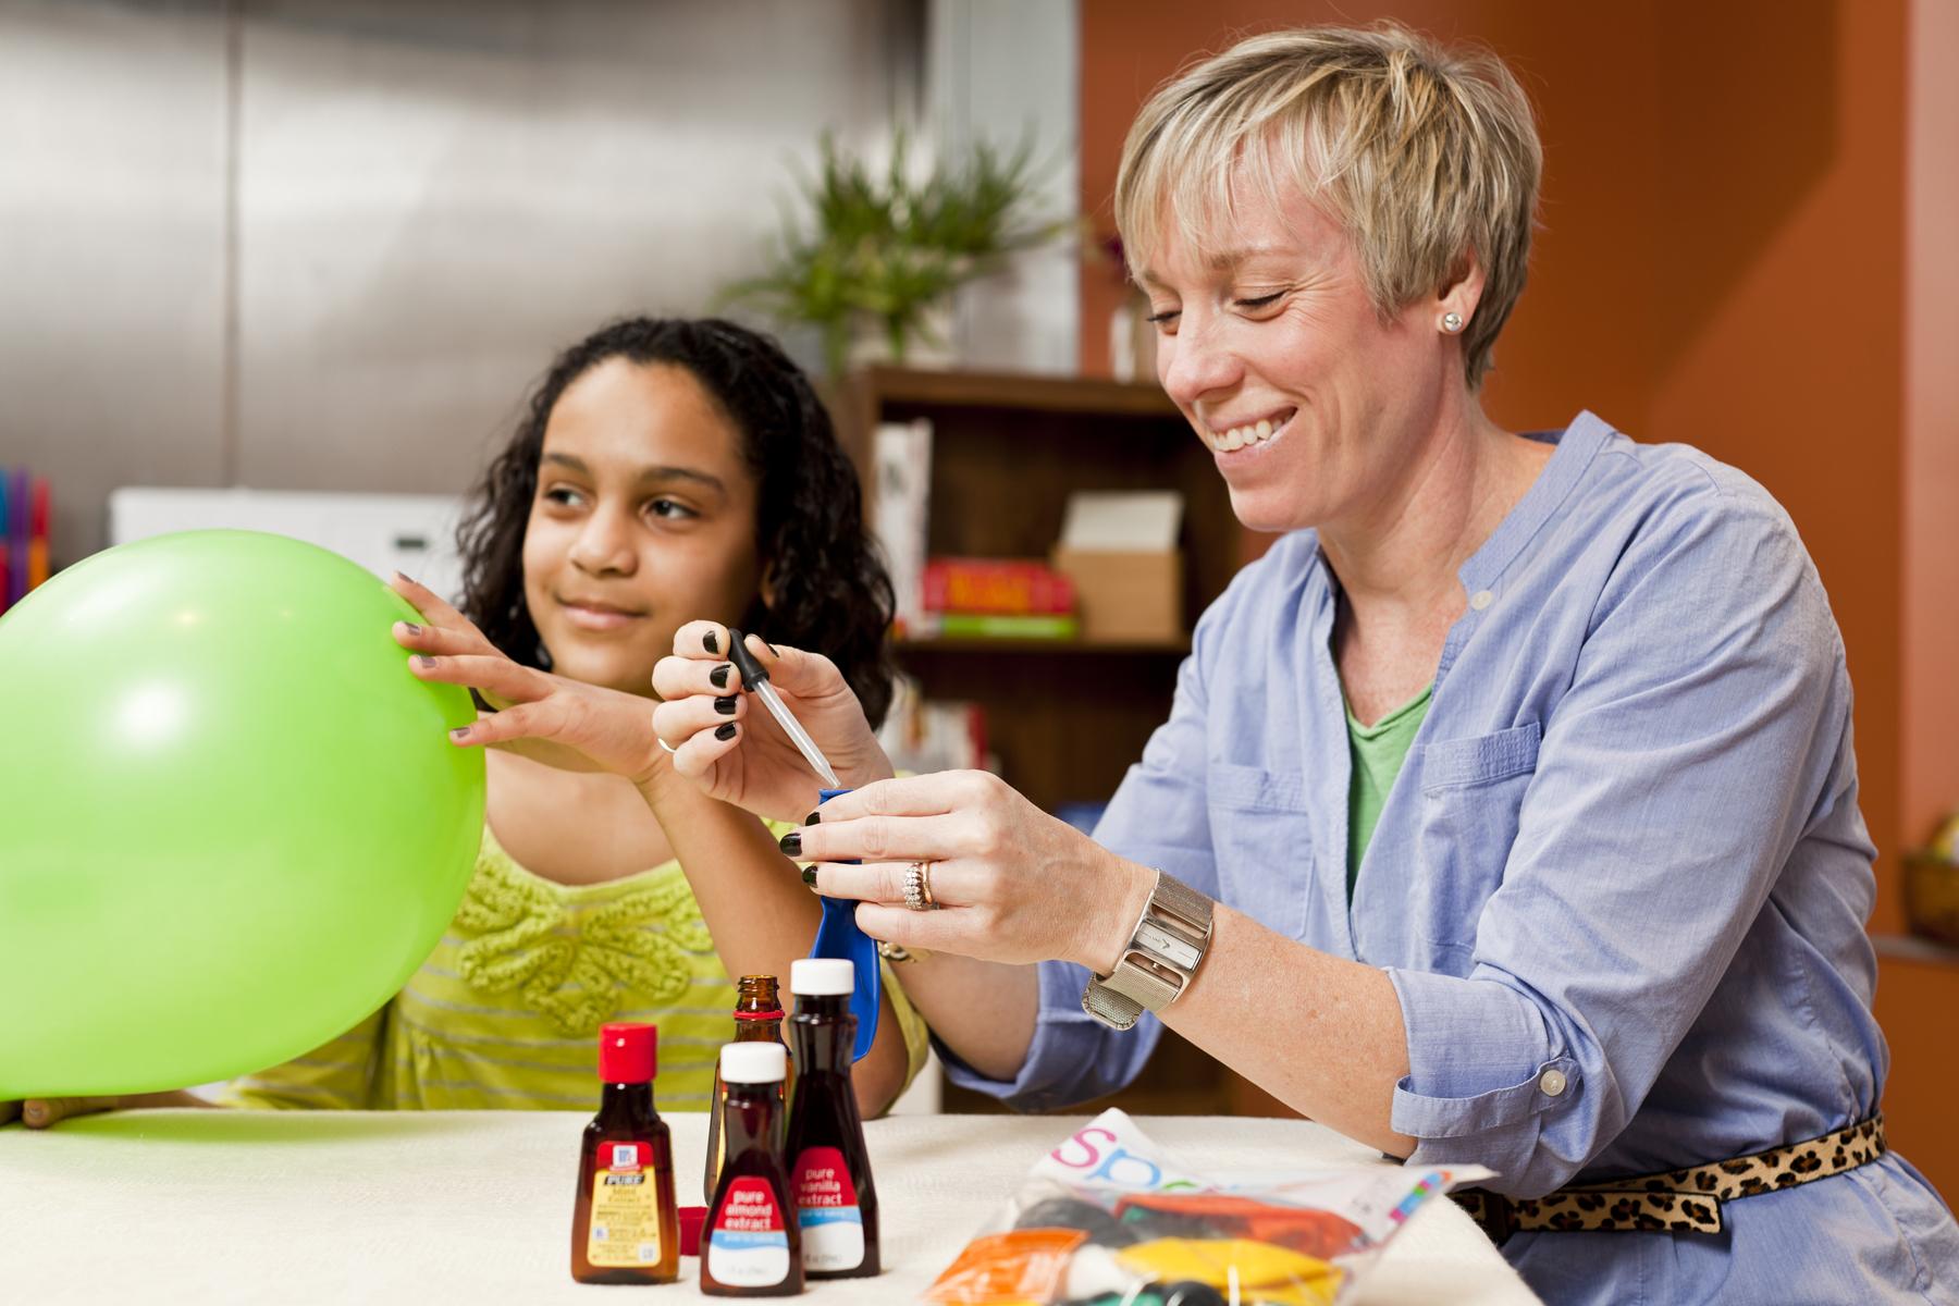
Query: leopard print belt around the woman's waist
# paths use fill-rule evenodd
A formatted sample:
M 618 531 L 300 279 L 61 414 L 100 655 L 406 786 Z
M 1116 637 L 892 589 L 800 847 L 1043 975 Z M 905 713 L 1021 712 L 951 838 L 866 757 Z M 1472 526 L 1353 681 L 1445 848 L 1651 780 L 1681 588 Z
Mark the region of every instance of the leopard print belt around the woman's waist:
M 1847 1124 L 1836 1134 L 1734 1161 L 1573 1185 L 1530 1198 L 1483 1189 L 1465 1189 L 1450 1196 L 1497 1245 L 1516 1232 L 1720 1234 L 1722 1202 L 1830 1179 L 1869 1165 L 1881 1155 L 1885 1155 L 1885 1116 L 1879 1114 Z

